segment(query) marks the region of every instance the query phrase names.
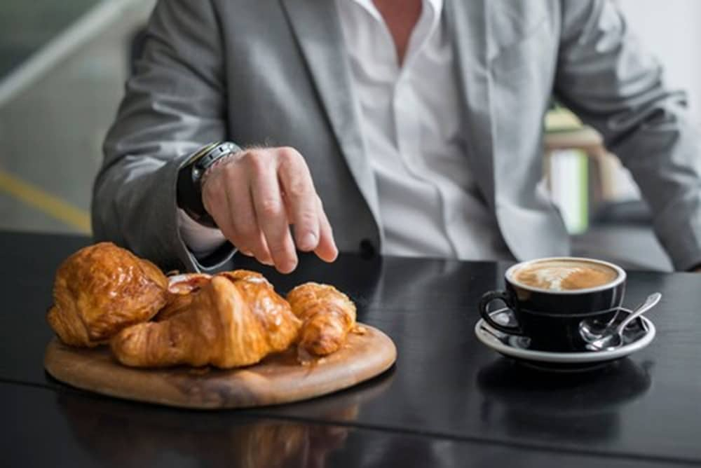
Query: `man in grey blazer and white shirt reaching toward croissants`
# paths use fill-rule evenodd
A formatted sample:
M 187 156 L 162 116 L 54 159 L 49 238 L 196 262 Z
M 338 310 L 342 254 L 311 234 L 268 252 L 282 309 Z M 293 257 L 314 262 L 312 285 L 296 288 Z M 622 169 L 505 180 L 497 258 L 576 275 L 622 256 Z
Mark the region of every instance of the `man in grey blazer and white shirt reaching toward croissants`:
M 700 140 L 604 0 L 161 0 L 95 235 L 206 271 L 568 254 L 537 184 L 552 95 L 631 170 L 674 266 L 701 264 Z

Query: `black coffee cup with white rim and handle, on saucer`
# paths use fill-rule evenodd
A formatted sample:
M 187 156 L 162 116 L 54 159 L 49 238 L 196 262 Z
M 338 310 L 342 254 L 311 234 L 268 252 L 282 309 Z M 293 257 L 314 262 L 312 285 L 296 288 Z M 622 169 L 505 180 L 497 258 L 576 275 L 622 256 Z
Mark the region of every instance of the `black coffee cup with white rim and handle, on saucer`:
M 503 291 L 486 292 L 479 313 L 492 328 L 526 336 L 529 347 L 543 351 L 583 351 L 583 320 L 609 322 L 625 294 L 625 270 L 597 259 L 552 257 L 524 261 L 504 275 Z M 497 323 L 489 305 L 501 300 L 512 310 L 509 324 Z

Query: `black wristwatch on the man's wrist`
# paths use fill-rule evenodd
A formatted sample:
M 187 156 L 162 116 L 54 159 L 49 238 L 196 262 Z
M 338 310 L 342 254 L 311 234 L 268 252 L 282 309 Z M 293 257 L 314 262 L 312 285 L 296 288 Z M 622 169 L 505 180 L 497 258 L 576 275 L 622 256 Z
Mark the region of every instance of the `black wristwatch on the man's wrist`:
M 202 202 L 202 176 L 217 160 L 238 151 L 231 142 L 215 142 L 194 153 L 177 174 L 177 205 L 203 226 L 216 227 Z

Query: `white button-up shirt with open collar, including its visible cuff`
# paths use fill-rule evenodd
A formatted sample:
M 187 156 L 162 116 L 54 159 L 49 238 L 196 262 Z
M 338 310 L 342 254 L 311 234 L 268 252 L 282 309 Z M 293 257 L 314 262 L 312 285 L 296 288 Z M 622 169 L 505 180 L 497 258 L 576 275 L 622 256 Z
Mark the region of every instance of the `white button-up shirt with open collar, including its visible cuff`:
M 511 259 L 494 214 L 477 195 L 465 154 L 453 49 L 443 0 L 423 0 L 400 67 L 372 0 L 336 0 L 356 113 L 379 195 L 382 253 Z M 180 212 L 182 237 L 205 256 L 224 242 Z

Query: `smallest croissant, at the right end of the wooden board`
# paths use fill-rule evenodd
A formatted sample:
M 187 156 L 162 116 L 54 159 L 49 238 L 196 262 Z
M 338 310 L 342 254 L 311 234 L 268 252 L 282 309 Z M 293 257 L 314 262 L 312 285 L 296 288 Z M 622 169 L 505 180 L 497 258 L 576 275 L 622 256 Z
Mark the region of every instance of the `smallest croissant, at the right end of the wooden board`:
M 339 350 L 355 324 L 355 304 L 329 284 L 300 284 L 287 294 L 287 301 L 303 322 L 299 349 L 312 355 Z

